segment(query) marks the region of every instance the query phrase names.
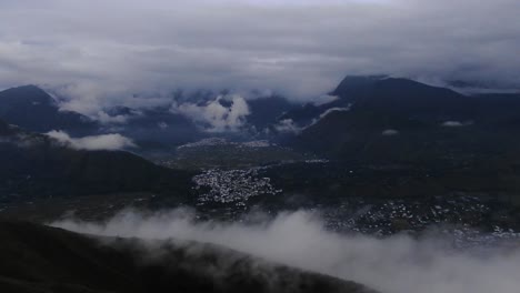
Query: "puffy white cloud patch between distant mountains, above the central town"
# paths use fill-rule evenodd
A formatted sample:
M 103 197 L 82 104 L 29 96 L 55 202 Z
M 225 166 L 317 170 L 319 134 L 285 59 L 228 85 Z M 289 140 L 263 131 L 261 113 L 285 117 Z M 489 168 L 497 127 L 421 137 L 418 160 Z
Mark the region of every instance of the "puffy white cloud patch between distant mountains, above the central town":
M 180 113 L 200 124 L 208 132 L 234 132 L 247 123 L 250 114 L 248 102 L 238 94 L 218 95 L 214 100 L 202 104 L 184 102 L 171 108 L 173 113 Z

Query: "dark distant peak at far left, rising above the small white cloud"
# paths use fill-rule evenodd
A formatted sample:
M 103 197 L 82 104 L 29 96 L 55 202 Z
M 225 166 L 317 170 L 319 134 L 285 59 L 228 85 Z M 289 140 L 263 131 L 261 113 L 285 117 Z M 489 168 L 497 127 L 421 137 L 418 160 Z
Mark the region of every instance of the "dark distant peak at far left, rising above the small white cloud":
M 97 129 L 97 124 L 84 115 L 60 111 L 52 98 L 36 85 L 1 91 L 0 118 L 34 132 L 88 133 Z

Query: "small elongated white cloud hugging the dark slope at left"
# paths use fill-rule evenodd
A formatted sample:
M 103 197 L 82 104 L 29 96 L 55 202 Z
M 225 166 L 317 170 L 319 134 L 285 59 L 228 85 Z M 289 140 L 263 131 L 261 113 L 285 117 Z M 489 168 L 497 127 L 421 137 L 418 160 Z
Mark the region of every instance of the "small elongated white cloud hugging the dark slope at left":
M 63 131 L 50 131 L 46 133 L 50 138 L 58 140 L 60 143 L 77 150 L 122 150 L 126 148 L 136 148 L 132 140 L 121 134 L 102 134 L 84 138 L 71 138 L 67 132 Z

